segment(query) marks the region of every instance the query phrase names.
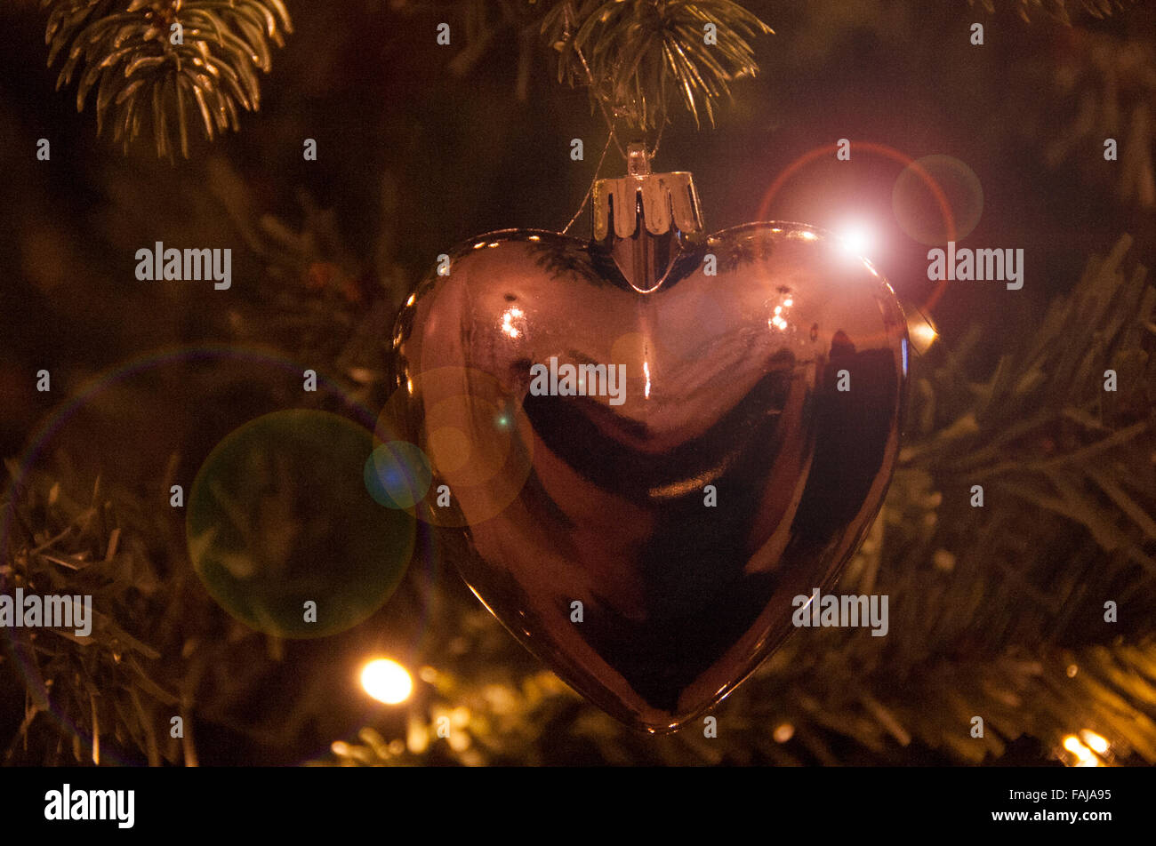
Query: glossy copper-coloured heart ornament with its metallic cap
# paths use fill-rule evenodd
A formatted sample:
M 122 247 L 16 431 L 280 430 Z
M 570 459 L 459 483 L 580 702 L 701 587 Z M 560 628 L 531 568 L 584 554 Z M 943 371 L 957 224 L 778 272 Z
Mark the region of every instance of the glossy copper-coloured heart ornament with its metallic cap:
M 854 552 L 898 452 L 907 339 L 839 239 L 703 236 L 690 175 L 631 155 L 598 183 L 592 240 L 494 232 L 418 285 L 390 416 L 432 469 L 416 512 L 486 607 L 665 732 L 750 675 Z

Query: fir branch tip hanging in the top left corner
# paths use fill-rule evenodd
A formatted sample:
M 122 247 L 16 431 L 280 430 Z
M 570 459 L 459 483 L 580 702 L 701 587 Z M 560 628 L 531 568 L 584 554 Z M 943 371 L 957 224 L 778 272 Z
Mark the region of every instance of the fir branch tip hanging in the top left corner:
M 257 70 L 292 31 L 281 0 L 42 0 L 57 88 L 79 76 L 76 109 L 96 91 L 97 133 L 125 151 L 150 125 L 157 156 L 188 157 L 188 124 L 212 140 L 260 104 Z M 179 24 L 179 27 L 178 27 Z M 178 37 L 179 36 L 179 37 Z M 175 43 L 176 42 L 176 43 Z

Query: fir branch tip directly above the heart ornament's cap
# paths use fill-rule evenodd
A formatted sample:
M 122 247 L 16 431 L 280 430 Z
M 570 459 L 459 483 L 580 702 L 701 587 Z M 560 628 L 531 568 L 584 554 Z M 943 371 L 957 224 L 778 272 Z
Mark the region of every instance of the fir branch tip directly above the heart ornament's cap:
M 558 81 L 590 86 L 592 106 L 639 129 L 666 123 L 676 97 L 696 126 L 699 110 L 713 125 L 728 83 L 758 70 L 750 42 L 772 32 L 731 0 L 564 0 L 541 31 L 558 53 Z

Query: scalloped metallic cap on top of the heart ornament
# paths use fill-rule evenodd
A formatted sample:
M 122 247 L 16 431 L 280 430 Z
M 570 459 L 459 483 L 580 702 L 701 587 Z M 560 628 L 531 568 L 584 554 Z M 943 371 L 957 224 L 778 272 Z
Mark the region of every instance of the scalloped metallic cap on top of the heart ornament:
M 672 228 L 682 232 L 702 231 L 698 192 L 689 172 L 651 173 L 642 144 L 630 144 L 627 170 L 627 176 L 618 179 L 594 183 L 595 240 L 603 240 L 609 233 L 612 217 L 618 238 L 633 236 L 639 216 L 651 235 L 665 235 Z

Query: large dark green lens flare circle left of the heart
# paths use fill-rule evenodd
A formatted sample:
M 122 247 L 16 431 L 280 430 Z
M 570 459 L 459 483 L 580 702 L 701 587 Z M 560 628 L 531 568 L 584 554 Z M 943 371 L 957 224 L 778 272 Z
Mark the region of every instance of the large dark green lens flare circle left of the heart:
M 304 409 L 267 414 L 217 445 L 190 494 L 187 540 L 222 608 L 271 634 L 320 637 L 390 598 L 416 524 L 370 496 L 371 451 L 368 430 Z

